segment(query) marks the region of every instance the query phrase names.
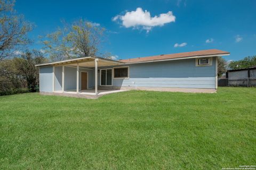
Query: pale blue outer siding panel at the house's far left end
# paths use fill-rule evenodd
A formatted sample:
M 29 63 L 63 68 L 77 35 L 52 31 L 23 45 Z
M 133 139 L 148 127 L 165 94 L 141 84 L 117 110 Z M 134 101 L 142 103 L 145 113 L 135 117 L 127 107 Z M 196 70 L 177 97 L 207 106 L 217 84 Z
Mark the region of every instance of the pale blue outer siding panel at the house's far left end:
M 39 90 L 44 92 L 52 92 L 52 66 L 41 67 L 39 78 Z

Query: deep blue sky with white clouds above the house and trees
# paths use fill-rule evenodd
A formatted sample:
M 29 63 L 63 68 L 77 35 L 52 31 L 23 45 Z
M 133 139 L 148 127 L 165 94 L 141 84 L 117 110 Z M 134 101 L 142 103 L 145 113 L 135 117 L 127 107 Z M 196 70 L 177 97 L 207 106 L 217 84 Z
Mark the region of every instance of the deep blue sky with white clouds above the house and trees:
M 256 55 L 253 0 L 17 0 L 14 8 L 36 25 L 29 36 L 38 49 L 39 35 L 54 31 L 63 19 L 72 22 L 82 18 L 106 28 L 101 52 L 110 52 L 118 59 L 211 48 L 230 52 L 226 60 Z

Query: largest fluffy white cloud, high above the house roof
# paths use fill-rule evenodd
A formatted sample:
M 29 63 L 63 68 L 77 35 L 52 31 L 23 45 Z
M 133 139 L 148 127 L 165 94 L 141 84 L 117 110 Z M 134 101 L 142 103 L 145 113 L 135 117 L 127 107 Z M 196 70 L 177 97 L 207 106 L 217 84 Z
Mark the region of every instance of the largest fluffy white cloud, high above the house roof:
M 126 12 L 124 15 L 116 15 L 113 21 L 122 21 L 125 28 L 141 28 L 149 32 L 153 27 L 163 26 L 166 23 L 175 22 L 172 11 L 151 17 L 150 12 L 138 7 L 136 11 Z

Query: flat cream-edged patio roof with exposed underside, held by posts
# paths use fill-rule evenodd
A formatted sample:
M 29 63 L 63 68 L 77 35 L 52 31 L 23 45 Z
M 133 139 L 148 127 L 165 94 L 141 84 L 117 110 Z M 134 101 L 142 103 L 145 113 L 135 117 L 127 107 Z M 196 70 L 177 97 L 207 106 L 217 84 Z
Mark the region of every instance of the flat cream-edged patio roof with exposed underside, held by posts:
M 70 65 L 70 66 L 76 66 L 77 63 L 79 63 L 79 66 L 82 67 L 94 67 L 94 60 L 98 58 L 98 64 L 99 66 L 110 66 L 110 65 L 119 65 L 124 64 L 124 62 L 121 61 L 115 61 L 110 60 L 107 58 L 101 58 L 96 56 L 88 56 L 88 57 L 82 57 L 82 58 L 74 58 L 70 60 L 64 60 L 64 61 L 58 61 L 58 62 L 52 62 L 52 63 L 45 63 L 45 64 L 38 64 L 36 66 L 61 66 L 61 65 Z

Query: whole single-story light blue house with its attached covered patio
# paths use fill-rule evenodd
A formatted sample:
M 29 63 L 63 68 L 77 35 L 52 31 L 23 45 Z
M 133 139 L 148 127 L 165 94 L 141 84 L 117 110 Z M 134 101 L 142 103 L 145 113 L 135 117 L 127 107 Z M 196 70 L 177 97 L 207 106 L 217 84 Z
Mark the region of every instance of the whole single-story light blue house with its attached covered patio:
M 36 65 L 45 95 L 103 95 L 115 90 L 215 92 L 218 49 L 109 60 L 96 56 Z M 95 86 L 96 85 L 96 86 Z

